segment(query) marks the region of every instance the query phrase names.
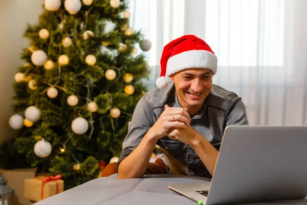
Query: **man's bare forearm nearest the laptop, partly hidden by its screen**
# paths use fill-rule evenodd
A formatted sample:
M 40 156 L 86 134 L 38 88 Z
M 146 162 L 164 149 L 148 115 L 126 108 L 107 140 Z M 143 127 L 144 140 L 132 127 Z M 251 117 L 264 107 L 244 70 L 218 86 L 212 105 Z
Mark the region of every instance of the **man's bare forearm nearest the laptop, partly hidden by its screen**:
M 196 137 L 191 147 L 198 154 L 209 173 L 213 175 L 218 151 L 201 134 Z

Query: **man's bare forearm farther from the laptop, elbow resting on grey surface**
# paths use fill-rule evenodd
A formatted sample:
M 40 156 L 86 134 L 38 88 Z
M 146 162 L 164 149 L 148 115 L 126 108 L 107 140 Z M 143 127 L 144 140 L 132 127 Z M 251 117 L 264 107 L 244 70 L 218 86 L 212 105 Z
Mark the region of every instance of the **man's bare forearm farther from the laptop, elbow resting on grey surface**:
M 118 178 L 138 178 L 142 177 L 147 169 L 150 156 L 155 149 L 157 140 L 148 137 L 146 133 L 138 147 L 131 152 L 118 167 Z

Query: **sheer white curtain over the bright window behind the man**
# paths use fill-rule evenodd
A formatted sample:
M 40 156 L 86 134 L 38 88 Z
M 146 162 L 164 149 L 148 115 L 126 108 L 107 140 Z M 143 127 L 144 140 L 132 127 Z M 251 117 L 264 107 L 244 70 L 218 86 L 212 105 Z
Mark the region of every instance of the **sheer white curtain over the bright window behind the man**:
M 130 0 L 130 26 L 152 43 L 160 75 L 163 47 L 185 34 L 218 58 L 213 84 L 242 97 L 250 125 L 307 125 L 306 0 Z M 141 51 L 139 51 L 141 52 Z

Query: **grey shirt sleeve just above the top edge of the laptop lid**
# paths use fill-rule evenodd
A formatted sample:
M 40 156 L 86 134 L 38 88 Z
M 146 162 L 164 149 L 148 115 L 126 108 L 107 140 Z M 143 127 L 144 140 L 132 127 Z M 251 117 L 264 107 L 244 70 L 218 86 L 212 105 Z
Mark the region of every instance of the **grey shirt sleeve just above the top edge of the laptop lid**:
M 241 98 L 237 98 L 235 103 L 230 107 L 226 117 L 226 127 L 230 125 L 248 125 L 245 106 Z

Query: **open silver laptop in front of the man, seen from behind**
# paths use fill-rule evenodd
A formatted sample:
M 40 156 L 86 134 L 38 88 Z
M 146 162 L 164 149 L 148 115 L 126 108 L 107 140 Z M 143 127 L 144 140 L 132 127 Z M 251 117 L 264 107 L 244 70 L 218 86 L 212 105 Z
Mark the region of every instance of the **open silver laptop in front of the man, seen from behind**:
M 208 205 L 304 199 L 307 126 L 229 126 L 211 182 L 168 188 Z

